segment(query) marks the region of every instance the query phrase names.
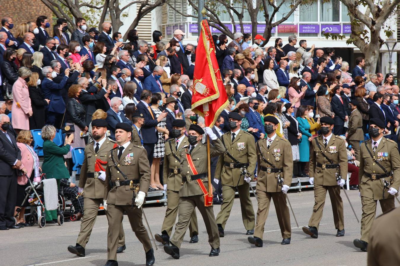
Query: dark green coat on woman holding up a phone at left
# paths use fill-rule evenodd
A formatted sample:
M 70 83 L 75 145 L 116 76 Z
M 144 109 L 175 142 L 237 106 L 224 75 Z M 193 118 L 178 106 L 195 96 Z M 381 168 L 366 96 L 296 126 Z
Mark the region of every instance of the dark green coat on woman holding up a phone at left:
M 46 173 L 46 178 L 70 178 L 70 173 L 65 167 L 64 156 L 70 151 L 70 145 L 58 147 L 51 140 L 43 142 L 43 165 L 42 172 Z

